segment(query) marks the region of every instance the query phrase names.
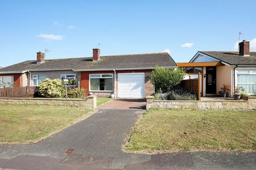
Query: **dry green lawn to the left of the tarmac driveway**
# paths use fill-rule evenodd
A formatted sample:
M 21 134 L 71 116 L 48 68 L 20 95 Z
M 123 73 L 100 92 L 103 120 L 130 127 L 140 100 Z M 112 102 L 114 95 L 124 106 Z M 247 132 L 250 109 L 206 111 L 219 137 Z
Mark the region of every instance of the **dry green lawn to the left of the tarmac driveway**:
M 0 143 L 33 143 L 90 113 L 84 107 L 0 106 Z

